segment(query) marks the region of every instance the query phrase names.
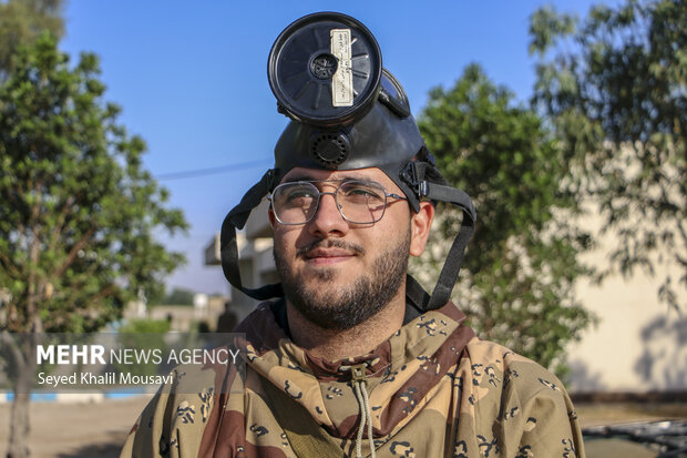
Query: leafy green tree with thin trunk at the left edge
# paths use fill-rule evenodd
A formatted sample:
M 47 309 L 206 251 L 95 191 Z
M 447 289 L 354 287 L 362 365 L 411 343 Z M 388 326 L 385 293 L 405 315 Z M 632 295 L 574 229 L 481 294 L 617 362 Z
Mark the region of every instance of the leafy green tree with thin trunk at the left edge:
M 18 368 L 9 457 L 28 456 L 32 340 L 10 333 L 92 332 L 141 295 L 162 294 L 181 262 L 153 232 L 185 230 L 142 166 L 145 143 L 103 101 L 93 54 L 70 67 L 53 38 L 24 48 L 0 84 L 0 314 Z

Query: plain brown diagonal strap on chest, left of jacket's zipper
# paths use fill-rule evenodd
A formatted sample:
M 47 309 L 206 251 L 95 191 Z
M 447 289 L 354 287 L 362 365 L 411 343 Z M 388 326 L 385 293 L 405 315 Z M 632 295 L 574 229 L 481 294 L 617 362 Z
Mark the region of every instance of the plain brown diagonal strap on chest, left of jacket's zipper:
M 269 380 L 263 387 L 273 405 L 273 414 L 284 428 L 291 449 L 299 458 L 345 457 L 344 450 L 312 418 L 310 413 Z

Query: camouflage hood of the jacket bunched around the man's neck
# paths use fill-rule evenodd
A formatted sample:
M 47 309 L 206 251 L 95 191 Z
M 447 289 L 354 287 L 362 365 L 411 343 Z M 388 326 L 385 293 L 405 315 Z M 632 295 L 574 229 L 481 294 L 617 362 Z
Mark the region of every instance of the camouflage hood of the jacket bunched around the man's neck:
M 280 305 L 281 304 L 281 305 Z M 350 367 L 367 364 L 367 386 L 375 437 L 410 421 L 423 399 L 455 365 L 474 333 L 453 303 L 406 323 L 367 355 L 328 362 L 294 344 L 275 312 L 281 303 L 263 303 L 239 327 L 246 334 L 247 364 L 264 379 L 307 409 L 328 432 L 353 438 L 358 405 Z

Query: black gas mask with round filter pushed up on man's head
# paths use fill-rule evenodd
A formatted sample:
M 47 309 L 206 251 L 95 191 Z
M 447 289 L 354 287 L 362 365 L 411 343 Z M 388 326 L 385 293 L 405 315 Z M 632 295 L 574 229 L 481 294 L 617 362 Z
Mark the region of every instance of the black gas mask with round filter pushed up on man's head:
M 356 19 L 320 12 L 298 19 L 269 53 L 268 79 L 278 111 L 291 119 L 275 147 L 275 166 L 265 173 L 222 225 L 222 267 L 229 283 L 256 299 L 283 296 L 280 284 L 246 288 L 238 269 L 236 228 L 294 167 L 356 170 L 378 167 L 418 212 L 421 200 L 442 201 L 463 211 L 432 295 L 408 276 L 407 296 L 420 312 L 449 301 L 476 213 L 470 196 L 441 176 L 410 114 L 400 83 L 382 68 L 375 37 Z

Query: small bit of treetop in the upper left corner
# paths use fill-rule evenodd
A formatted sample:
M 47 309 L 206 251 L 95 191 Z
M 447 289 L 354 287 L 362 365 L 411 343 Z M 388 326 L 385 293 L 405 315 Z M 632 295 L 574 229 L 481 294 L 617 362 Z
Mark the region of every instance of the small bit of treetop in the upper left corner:
M 64 33 L 62 0 L 0 0 L 0 81 L 12 71 L 19 48 L 45 31 Z

